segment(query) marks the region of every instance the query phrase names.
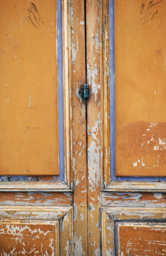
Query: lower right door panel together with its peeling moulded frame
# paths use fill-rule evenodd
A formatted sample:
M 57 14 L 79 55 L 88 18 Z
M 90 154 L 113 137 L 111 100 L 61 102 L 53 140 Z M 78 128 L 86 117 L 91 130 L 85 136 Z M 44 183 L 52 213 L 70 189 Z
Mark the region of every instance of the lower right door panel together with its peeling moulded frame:
M 166 255 L 165 232 L 165 208 L 102 208 L 104 256 Z

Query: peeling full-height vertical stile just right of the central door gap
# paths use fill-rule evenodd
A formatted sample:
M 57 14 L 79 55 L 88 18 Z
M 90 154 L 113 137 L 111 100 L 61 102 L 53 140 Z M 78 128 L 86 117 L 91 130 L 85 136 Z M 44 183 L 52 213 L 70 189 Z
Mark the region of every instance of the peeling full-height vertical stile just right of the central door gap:
M 88 255 L 101 255 L 101 190 L 103 186 L 102 131 L 103 83 L 108 86 L 108 1 L 86 1 L 87 83 L 90 99 L 87 104 L 88 148 Z M 107 97 L 106 91 L 105 97 Z M 105 106 L 106 108 L 107 106 Z M 92 111 L 93 110 L 93 111 Z M 106 113 L 108 115 L 108 113 Z M 109 133 L 109 130 L 107 131 Z M 108 138 L 109 139 L 109 138 Z M 104 149 L 106 150 L 106 149 Z M 107 160 L 105 161 L 105 163 Z

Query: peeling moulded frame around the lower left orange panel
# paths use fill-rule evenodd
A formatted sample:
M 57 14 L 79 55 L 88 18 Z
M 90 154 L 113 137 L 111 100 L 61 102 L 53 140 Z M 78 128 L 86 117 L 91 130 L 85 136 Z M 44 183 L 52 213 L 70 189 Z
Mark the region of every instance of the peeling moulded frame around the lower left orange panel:
M 40 234 L 42 225 L 53 225 L 55 240 L 51 239 L 52 243 L 54 242 L 54 248 L 51 248 L 52 254 L 65 255 L 70 253 L 70 255 L 73 255 L 73 207 L 0 206 L 0 208 L 0 224 L 7 225 L 9 229 L 14 225 L 17 229 L 21 226 L 20 230 L 24 226 L 31 230 L 31 226 L 39 225 Z M 13 237 L 17 237 L 19 232 L 15 232 L 14 229 L 12 230 Z M 35 241 L 32 244 L 35 244 Z M 17 243 L 17 250 L 19 250 L 19 242 Z

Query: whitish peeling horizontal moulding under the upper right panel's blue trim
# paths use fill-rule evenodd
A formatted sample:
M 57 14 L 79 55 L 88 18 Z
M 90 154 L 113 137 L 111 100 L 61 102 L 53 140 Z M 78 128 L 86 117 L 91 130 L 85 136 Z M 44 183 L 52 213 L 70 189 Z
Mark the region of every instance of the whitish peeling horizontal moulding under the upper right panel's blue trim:
M 161 182 L 110 182 L 104 191 L 166 192 L 166 183 Z

